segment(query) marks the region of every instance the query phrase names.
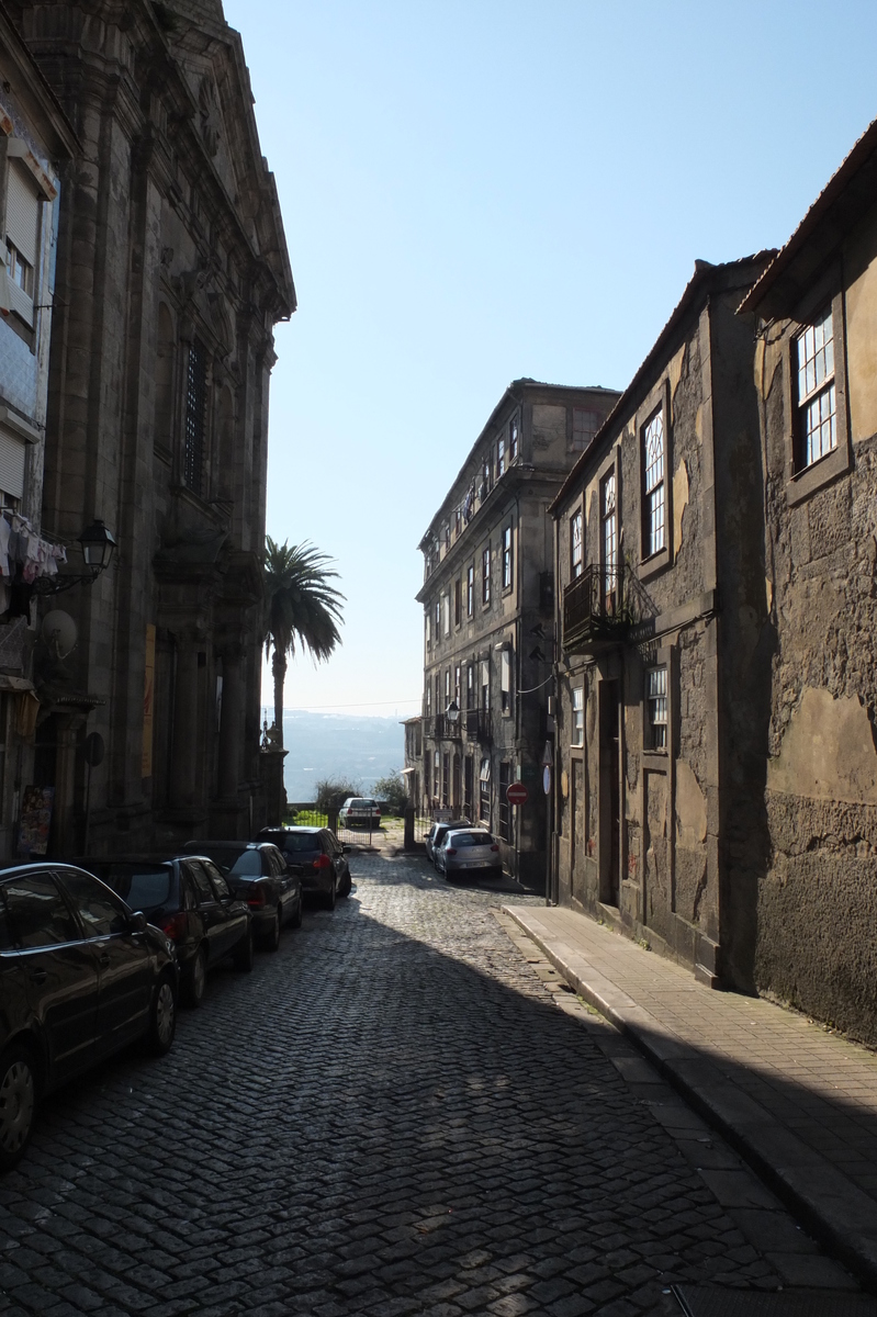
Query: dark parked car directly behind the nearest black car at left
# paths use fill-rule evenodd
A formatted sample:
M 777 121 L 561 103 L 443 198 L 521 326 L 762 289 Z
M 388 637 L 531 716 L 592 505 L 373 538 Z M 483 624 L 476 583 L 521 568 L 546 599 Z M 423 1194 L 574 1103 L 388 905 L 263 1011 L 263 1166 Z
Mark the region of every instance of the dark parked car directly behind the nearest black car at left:
M 176 947 L 180 993 L 188 1006 L 204 996 L 207 972 L 226 956 L 253 968 L 253 919 L 209 856 L 122 856 L 80 861 Z

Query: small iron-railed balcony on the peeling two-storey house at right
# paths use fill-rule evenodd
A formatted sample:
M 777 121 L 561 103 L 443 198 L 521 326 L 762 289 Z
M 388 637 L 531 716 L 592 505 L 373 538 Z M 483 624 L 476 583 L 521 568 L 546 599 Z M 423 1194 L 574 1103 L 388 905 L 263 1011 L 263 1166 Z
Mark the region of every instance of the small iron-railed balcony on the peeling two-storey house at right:
M 606 653 L 628 641 L 632 630 L 656 611 L 629 566 L 590 564 L 564 590 L 564 649 Z

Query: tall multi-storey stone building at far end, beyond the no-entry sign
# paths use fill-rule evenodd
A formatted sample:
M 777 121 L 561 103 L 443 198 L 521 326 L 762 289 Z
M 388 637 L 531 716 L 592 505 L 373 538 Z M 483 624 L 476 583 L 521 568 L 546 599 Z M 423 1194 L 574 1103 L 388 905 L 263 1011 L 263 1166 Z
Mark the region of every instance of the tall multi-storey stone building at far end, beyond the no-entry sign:
M 490 827 L 503 864 L 544 889 L 541 757 L 552 677 L 546 510 L 618 394 L 518 379 L 475 440 L 424 535 L 421 813 Z M 523 781 L 529 799 L 511 807 Z

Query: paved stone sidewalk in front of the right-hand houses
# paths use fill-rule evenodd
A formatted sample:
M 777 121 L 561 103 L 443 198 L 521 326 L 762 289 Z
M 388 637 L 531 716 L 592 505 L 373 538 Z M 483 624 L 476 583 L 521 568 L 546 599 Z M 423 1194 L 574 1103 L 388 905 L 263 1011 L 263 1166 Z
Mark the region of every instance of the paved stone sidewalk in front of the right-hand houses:
M 560 907 L 506 914 L 758 1171 L 877 1285 L 877 1055 Z

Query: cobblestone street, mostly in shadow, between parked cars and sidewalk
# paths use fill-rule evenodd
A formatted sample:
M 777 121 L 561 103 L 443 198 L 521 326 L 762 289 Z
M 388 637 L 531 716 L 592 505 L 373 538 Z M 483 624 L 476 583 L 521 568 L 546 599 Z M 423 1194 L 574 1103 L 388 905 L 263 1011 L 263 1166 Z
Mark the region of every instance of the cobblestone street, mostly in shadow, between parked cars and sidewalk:
M 558 1009 L 495 914 L 520 897 L 352 859 L 350 898 L 215 973 L 167 1059 L 45 1104 L 0 1181 L 0 1312 L 623 1317 L 674 1310 L 672 1281 L 787 1283 L 656 1117 L 645 1063 Z

